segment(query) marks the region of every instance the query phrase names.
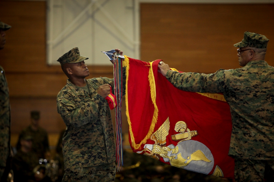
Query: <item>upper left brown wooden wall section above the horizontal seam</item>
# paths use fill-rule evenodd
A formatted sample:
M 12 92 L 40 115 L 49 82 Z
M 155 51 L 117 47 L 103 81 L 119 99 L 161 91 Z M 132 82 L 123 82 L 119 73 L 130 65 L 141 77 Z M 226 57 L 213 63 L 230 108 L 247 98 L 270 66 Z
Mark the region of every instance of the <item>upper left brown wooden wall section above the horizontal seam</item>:
M 12 26 L 0 51 L 6 71 L 55 70 L 45 64 L 45 1 L 0 1 L 0 17 Z

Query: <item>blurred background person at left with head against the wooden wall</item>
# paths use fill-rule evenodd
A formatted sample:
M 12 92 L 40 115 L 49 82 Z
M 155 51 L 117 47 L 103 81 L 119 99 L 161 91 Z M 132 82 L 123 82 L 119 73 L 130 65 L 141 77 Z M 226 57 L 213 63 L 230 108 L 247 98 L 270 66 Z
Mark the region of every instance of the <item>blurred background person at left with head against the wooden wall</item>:
M 37 154 L 39 158 L 48 159 L 50 157 L 49 147 L 48 147 L 48 134 L 45 129 L 39 126 L 40 112 L 31 111 L 31 123 L 26 127 L 19 135 L 17 150 L 19 149 L 19 142 L 22 136 L 29 135 L 32 136 L 32 149 L 33 152 Z

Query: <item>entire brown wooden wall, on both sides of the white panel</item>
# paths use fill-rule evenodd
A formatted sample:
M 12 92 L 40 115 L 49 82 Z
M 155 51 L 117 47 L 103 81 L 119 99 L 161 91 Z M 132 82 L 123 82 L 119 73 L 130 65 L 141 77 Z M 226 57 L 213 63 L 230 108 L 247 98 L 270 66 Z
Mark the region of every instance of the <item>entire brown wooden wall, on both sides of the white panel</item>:
M 141 60 L 163 59 L 185 72 L 238 68 L 233 44 L 250 31 L 270 39 L 266 61 L 274 66 L 273 9 L 274 4 L 141 4 Z M 2 0 L 0 18 L 12 26 L 0 51 L 10 89 L 12 145 L 30 123 L 32 110 L 41 111 L 40 125 L 50 134 L 50 145 L 55 145 L 65 129 L 56 96 L 67 78 L 60 66 L 46 64 L 46 1 Z M 113 77 L 111 66 L 89 70 L 89 78 Z M 122 114 L 122 132 L 127 133 L 125 104 Z

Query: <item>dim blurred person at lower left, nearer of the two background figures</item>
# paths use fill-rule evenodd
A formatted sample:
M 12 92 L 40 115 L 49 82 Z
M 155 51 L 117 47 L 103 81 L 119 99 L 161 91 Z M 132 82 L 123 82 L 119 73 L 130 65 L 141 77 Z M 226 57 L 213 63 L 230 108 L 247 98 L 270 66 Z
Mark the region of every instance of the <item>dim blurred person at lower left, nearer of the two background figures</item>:
M 19 150 L 12 159 L 14 182 L 35 180 L 33 169 L 39 164 L 38 161 L 37 155 L 32 151 L 32 137 L 22 135 Z

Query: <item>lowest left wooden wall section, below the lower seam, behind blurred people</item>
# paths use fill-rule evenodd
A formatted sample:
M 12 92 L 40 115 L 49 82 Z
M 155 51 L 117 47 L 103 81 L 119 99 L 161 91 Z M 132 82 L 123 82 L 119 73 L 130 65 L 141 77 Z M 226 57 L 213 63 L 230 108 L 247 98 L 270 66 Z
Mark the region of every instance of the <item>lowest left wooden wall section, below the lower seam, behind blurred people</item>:
M 125 100 L 123 98 L 123 100 Z M 40 126 L 45 128 L 49 133 L 49 144 L 55 146 L 59 139 L 59 132 L 65 129 L 64 121 L 57 113 L 56 97 L 18 97 L 11 98 L 11 144 L 16 146 L 18 135 L 21 130 L 30 124 L 30 111 L 40 111 Z M 115 111 L 111 111 L 112 124 L 115 127 Z M 125 102 L 122 103 L 122 133 L 128 133 L 129 125 L 125 115 Z M 125 137 L 127 139 L 127 137 Z M 128 142 L 128 141 L 126 141 Z

